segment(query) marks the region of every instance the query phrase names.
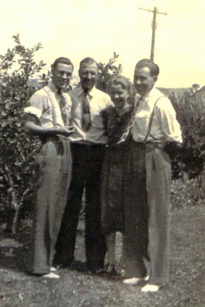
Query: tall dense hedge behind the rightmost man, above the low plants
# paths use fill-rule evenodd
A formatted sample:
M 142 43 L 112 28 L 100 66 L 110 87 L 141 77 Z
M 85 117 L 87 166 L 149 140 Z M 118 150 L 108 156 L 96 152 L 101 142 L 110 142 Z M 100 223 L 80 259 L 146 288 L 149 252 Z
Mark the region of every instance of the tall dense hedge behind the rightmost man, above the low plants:
M 205 100 L 190 98 L 186 93 L 179 97 L 172 95 L 170 98 L 183 137 L 178 171 L 186 171 L 189 178 L 194 178 L 201 173 L 205 162 Z

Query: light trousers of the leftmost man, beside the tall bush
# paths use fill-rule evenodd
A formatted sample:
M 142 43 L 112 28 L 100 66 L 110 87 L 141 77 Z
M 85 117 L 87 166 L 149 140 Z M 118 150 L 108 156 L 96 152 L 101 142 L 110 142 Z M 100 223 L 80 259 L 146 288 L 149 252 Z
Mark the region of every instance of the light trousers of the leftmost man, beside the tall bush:
M 35 159 L 33 240 L 29 271 L 50 273 L 71 177 L 70 144 L 51 137 Z

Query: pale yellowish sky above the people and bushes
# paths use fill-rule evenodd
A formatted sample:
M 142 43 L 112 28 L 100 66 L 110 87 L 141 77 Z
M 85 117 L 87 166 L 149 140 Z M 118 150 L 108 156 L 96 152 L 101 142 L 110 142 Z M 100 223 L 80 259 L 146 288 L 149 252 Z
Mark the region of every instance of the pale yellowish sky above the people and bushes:
M 133 79 L 135 64 L 150 57 L 153 13 L 157 14 L 155 62 L 158 86 L 189 87 L 205 84 L 205 0 L 0 0 L 0 54 L 14 46 L 19 33 L 25 47 L 39 41 L 36 53 L 49 69 L 66 56 L 74 63 L 86 56 L 107 62 L 115 51 L 122 74 Z

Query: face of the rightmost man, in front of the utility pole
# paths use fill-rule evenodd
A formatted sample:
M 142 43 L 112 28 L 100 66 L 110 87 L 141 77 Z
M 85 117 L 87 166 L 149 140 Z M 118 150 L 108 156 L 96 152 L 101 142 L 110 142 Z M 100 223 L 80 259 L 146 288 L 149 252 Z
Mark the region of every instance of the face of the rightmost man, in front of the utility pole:
M 152 90 L 156 80 L 157 76 L 151 76 L 148 67 L 135 69 L 134 71 L 134 87 L 141 96 L 146 95 Z

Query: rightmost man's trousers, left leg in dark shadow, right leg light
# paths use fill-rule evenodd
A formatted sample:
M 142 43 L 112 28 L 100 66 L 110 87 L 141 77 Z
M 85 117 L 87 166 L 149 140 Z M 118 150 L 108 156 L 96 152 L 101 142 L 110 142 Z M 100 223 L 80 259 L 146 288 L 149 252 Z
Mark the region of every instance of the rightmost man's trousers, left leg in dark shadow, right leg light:
M 146 150 L 132 141 L 125 203 L 125 278 L 145 277 L 144 258 L 149 260 L 152 284 L 169 278 L 170 183 L 168 154 Z

